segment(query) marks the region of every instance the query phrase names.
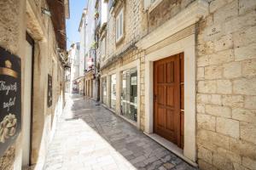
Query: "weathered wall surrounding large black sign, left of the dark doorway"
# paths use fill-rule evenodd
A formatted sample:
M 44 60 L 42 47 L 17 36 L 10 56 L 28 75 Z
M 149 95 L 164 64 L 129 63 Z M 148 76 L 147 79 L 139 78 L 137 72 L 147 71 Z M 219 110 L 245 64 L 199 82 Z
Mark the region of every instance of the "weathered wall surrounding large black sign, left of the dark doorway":
M 20 16 L 20 17 L 17 17 Z M 3 0 L 0 2 L 0 46 L 24 59 L 25 0 Z M 24 71 L 24 65 L 21 65 Z M 21 83 L 24 78 L 21 76 Z M 23 93 L 23 89 L 21 89 Z M 22 102 L 22 101 L 21 101 Z M 23 114 L 23 113 L 21 113 Z M 21 169 L 21 133 L 16 143 L 0 158 L 0 169 Z

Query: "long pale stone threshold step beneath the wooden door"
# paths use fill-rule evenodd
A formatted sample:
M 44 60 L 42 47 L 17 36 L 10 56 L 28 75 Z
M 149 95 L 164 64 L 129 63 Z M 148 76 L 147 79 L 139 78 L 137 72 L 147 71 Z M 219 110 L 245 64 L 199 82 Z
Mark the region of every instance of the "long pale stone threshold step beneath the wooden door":
M 177 147 L 176 144 L 172 144 L 172 142 L 170 142 L 167 139 L 164 139 L 162 137 L 160 137 L 158 134 L 156 133 L 145 133 L 149 138 L 153 139 L 155 142 L 161 144 L 163 147 L 165 147 L 167 150 L 172 151 L 173 154 L 175 154 L 176 156 L 180 157 L 181 159 L 183 159 L 183 161 L 188 162 L 190 165 L 192 165 L 193 167 L 198 167 L 198 164 L 195 163 L 194 161 L 189 160 L 189 158 L 187 158 L 186 156 L 183 155 L 183 150 L 180 149 L 179 147 Z

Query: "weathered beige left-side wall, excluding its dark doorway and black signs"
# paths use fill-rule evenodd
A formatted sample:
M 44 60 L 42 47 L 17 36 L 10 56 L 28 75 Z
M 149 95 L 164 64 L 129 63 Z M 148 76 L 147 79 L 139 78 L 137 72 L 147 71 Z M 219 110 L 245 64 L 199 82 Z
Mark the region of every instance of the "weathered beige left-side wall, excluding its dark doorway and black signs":
M 49 17 L 41 14 L 41 7 L 47 7 L 43 0 L 3 0 L 0 2 L 0 46 L 20 57 L 22 72 L 26 67 L 26 31 L 35 40 L 32 163 L 38 163 L 35 166 L 36 169 L 42 169 L 44 165 L 47 146 L 54 132 L 54 119 L 59 116 L 63 107 L 63 86 L 61 85 L 63 71 L 55 52 L 55 33 Z M 55 60 L 55 67 L 52 66 L 53 60 Z M 52 71 L 52 68 L 56 71 Z M 49 108 L 46 105 L 48 74 L 53 75 L 53 89 L 55 90 L 53 106 Z M 24 81 L 26 80 L 21 74 L 21 87 Z M 23 88 L 21 88 L 21 93 L 24 93 Z M 23 99 L 21 99 L 22 111 L 23 107 Z M 26 117 L 22 116 L 22 119 L 24 118 Z M 0 158 L 0 169 L 21 169 L 21 136 L 23 133 L 29 132 L 21 131 L 16 143 L 10 146 L 5 155 Z

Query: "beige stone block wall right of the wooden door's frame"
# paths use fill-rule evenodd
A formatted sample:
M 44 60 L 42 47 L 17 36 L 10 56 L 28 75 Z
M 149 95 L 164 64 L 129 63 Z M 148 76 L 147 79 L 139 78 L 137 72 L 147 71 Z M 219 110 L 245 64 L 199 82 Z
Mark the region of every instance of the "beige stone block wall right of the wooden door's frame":
M 201 169 L 256 169 L 256 1 L 211 0 L 197 27 Z

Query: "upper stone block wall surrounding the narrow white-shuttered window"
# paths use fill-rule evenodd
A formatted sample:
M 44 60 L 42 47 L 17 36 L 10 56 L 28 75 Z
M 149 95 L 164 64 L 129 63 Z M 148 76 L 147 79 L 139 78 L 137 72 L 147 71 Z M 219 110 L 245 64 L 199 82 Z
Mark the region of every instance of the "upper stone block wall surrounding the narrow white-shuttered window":
M 119 10 L 124 9 L 124 38 L 116 43 L 115 40 L 115 16 L 119 13 Z M 108 25 L 107 25 L 107 51 L 106 57 L 102 60 L 102 65 L 105 64 L 107 59 L 110 59 L 115 54 L 120 54 L 129 48 L 131 44 L 137 42 L 140 37 L 143 36 L 143 2 L 132 1 L 117 1 L 117 4 L 112 10 L 108 9 Z

